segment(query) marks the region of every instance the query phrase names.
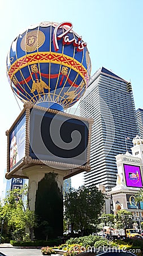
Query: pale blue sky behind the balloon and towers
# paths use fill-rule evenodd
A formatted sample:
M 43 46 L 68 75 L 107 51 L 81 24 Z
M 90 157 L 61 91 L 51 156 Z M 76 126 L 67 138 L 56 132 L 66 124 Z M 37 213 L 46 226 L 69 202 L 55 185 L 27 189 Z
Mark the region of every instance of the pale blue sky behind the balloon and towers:
M 135 106 L 143 108 L 142 0 L 0 0 L 1 20 L 1 171 L 6 168 L 6 136 L 20 113 L 6 77 L 6 56 L 12 41 L 31 24 L 70 21 L 83 36 L 92 61 L 92 75 L 100 67 L 132 82 Z M 23 104 L 20 103 L 21 108 Z

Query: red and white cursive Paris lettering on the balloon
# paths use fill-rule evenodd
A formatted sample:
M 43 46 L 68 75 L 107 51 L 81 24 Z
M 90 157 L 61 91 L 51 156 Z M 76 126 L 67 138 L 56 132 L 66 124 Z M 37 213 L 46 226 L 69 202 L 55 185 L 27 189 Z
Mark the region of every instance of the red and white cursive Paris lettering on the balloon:
M 66 31 L 64 31 L 62 34 L 58 35 L 58 29 L 62 28 L 64 26 L 64 29 Z M 65 27 L 65 26 L 68 26 Z M 72 30 L 72 23 L 71 22 L 62 22 L 59 23 L 57 27 L 55 27 L 54 29 L 54 34 L 53 34 L 53 44 L 54 44 L 54 48 L 55 51 L 58 51 L 59 46 L 58 46 L 58 40 L 63 38 L 63 44 L 73 44 L 73 46 L 77 47 L 77 52 L 81 52 L 83 51 L 84 47 L 87 45 L 85 42 L 82 42 L 82 36 L 80 36 L 78 39 L 76 38 L 72 38 L 70 39 L 69 36 L 67 35 L 68 32 L 70 32 Z

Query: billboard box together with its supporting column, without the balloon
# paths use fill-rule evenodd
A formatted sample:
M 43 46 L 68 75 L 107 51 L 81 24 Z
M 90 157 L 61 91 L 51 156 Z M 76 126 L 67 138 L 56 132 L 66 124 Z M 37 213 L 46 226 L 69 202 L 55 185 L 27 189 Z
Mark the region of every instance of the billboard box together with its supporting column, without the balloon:
M 29 179 L 29 208 L 37 215 L 34 235 L 38 240 L 63 236 L 63 179 L 90 171 L 92 123 L 92 118 L 27 102 L 6 132 L 6 178 Z M 73 131 L 76 138 L 71 136 Z

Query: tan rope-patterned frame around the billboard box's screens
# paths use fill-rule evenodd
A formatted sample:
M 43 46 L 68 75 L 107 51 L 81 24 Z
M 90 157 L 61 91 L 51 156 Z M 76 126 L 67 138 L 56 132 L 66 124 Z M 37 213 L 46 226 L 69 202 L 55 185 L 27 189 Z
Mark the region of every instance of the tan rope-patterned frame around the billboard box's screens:
M 44 112 L 49 112 L 49 113 L 54 113 L 54 114 L 59 114 L 63 115 L 65 117 L 69 118 L 75 118 L 81 121 L 85 121 L 89 123 L 88 127 L 88 146 L 87 146 L 87 151 L 86 151 L 86 159 L 90 159 L 90 143 L 91 143 L 91 133 L 92 133 L 92 125 L 94 122 L 93 118 L 83 118 L 79 117 L 77 115 L 73 114 L 67 114 L 64 112 L 59 112 L 58 110 L 54 109 L 47 109 L 41 106 L 36 106 L 32 104 L 31 102 L 26 102 L 24 104 L 24 109 L 21 111 L 19 116 L 16 118 L 15 122 L 12 124 L 9 130 L 6 131 L 7 135 L 7 172 L 6 172 L 6 179 L 11 179 L 11 177 L 22 177 L 22 178 L 28 178 L 27 176 L 24 176 L 23 174 L 23 169 L 32 167 L 32 166 L 53 166 L 56 169 L 64 169 L 64 170 L 70 170 L 68 174 L 64 177 L 64 179 L 67 179 L 68 177 L 71 177 L 73 175 L 79 174 L 80 172 L 83 171 L 90 171 L 90 164 L 89 160 L 87 160 L 85 165 L 78 166 L 77 164 L 71 164 L 71 163 L 62 163 L 62 162 L 55 162 L 55 161 L 50 161 L 50 160 L 39 160 L 39 159 L 33 159 L 30 156 L 30 142 L 29 142 L 29 118 L 31 115 L 31 109 L 35 108 L 38 110 L 43 110 Z M 20 163 L 16 164 L 15 167 L 10 170 L 10 133 L 12 129 L 16 126 L 18 123 L 19 119 L 22 117 L 22 115 L 25 113 L 25 155 L 21 159 Z

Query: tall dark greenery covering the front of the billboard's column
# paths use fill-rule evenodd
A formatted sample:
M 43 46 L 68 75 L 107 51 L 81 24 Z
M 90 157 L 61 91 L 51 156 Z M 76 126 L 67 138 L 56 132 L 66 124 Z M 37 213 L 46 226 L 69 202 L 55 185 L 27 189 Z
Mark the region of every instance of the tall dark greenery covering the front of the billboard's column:
M 58 187 L 58 174 L 49 172 L 38 182 L 35 212 L 37 227 L 34 235 L 37 240 L 63 236 L 63 193 Z

